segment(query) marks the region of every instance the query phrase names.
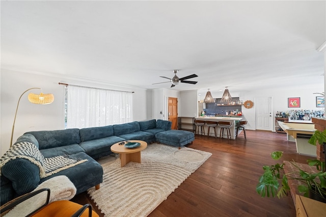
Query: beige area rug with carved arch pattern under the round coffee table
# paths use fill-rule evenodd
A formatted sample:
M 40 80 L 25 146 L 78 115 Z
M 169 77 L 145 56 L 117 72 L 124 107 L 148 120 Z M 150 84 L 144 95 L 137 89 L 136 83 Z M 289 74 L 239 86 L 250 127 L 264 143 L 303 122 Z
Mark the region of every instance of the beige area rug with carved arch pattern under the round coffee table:
M 88 194 L 104 216 L 147 216 L 210 156 L 192 148 L 150 144 L 142 151 L 141 164 L 129 162 L 121 168 L 119 157 L 100 161 L 103 183 Z

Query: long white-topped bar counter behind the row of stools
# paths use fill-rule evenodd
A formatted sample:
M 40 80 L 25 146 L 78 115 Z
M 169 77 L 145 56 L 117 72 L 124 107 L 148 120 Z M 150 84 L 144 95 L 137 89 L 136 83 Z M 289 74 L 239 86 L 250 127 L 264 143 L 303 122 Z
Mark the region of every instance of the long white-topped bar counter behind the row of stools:
M 197 117 L 195 119 L 196 120 L 202 120 L 202 121 L 216 121 L 216 122 L 227 121 L 227 122 L 231 122 L 232 123 L 232 126 L 230 128 L 231 139 L 234 140 L 235 139 L 235 124 L 236 124 L 236 122 L 240 121 L 242 118 L 241 117 L 240 118 L 233 118 L 233 117 Z M 206 124 L 204 125 L 204 129 L 205 129 L 205 133 L 207 135 L 208 127 L 206 126 Z M 217 134 L 218 137 L 220 137 L 220 130 L 221 130 L 220 127 L 216 127 L 216 134 Z M 225 131 L 224 131 L 224 133 L 225 133 Z M 210 135 L 214 136 L 214 132 L 213 132 L 212 129 L 210 130 Z M 227 135 L 225 135 L 224 138 L 227 138 Z

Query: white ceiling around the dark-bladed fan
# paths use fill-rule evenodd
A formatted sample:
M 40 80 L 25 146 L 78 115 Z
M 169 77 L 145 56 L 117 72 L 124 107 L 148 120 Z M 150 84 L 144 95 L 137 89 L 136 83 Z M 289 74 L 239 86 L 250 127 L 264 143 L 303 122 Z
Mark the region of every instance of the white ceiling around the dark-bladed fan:
M 1 1 L 1 67 L 147 89 L 323 85 L 325 1 Z M 323 90 L 318 90 L 323 91 Z M 222 95 L 222 94 L 221 94 Z

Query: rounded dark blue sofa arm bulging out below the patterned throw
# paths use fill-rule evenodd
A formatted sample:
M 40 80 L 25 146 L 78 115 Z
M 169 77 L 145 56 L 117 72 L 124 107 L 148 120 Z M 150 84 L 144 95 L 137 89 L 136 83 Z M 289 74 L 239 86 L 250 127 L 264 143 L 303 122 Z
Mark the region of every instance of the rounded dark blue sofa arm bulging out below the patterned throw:
M 9 160 L 1 168 L 1 173 L 12 182 L 18 196 L 33 191 L 40 182 L 39 167 L 24 158 Z

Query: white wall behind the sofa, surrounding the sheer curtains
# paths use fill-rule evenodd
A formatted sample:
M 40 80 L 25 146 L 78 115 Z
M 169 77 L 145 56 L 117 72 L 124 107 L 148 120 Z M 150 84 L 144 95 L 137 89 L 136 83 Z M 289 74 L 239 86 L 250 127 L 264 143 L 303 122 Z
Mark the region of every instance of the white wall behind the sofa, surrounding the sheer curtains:
M 151 98 L 151 91 L 135 87 L 106 84 L 99 81 L 87 81 L 78 78 L 68 78 L 58 75 L 44 75 L 40 73 L 26 73 L 12 70 L 1 70 L 1 153 L 10 147 L 10 137 L 19 96 L 26 90 L 39 87 L 43 93 L 52 93 L 55 101 L 48 105 L 37 105 L 28 101 L 26 92 L 20 100 L 13 135 L 13 142 L 27 131 L 64 129 L 64 94 L 65 87 L 58 83 L 96 87 L 121 91 L 134 91 L 133 93 L 133 120 L 149 119 L 151 106 L 147 100 Z M 40 93 L 39 90 L 31 90 Z

